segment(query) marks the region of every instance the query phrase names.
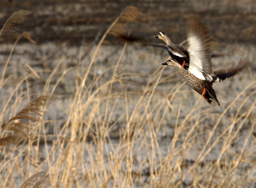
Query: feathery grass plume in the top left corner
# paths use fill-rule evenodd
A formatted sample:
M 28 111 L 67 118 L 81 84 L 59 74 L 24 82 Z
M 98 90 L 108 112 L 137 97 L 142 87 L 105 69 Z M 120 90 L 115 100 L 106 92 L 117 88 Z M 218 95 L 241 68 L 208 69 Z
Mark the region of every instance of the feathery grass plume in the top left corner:
M 5 32 L 17 32 L 18 28 L 15 27 L 15 23 L 20 24 L 25 20 L 25 16 L 31 14 L 31 12 L 26 10 L 20 10 L 14 12 L 12 16 L 5 22 L 3 28 L 0 30 L 0 36 L 4 35 Z

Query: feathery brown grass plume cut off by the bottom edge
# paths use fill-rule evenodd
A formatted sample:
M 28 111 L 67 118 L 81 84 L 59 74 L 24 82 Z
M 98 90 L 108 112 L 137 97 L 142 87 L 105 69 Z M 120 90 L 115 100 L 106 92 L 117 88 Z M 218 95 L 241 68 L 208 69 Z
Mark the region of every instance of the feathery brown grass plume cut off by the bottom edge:
M 38 172 L 35 175 L 28 178 L 21 186 L 20 188 L 28 188 L 33 185 L 35 188 L 42 187 L 45 185 L 45 183 L 50 182 L 49 175 L 45 176 L 47 171 Z

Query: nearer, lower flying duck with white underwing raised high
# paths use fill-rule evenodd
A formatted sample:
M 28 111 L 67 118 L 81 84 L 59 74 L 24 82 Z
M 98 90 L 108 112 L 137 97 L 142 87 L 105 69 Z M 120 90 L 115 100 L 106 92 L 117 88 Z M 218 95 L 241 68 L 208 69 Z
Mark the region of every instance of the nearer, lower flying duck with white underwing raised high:
M 247 58 L 241 58 L 239 63 L 231 69 L 212 71 L 210 55 L 210 35 L 207 29 L 198 20 L 192 19 L 187 25 L 189 67 L 183 68 L 176 59 L 169 59 L 161 65 L 169 65 L 178 69 L 187 84 L 209 103 L 214 100 L 218 106 L 216 92 L 212 88 L 214 82 L 223 82 L 234 77 L 248 65 Z

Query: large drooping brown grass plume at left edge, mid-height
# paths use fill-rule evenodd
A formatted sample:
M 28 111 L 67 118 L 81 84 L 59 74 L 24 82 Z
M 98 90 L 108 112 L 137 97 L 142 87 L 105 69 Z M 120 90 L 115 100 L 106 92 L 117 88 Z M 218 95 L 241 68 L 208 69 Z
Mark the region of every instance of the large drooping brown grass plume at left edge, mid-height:
M 45 107 L 48 106 L 49 103 L 52 104 L 56 99 L 57 97 L 52 95 L 42 95 L 20 110 L 20 112 L 11 118 L 6 124 L 6 129 L 12 130 L 16 134 L 0 138 L 0 145 L 18 144 L 22 140 L 29 139 L 28 133 L 29 131 L 33 131 L 31 128 L 32 126 L 31 124 L 20 120 L 25 119 L 40 122 L 40 117 L 42 117 Z

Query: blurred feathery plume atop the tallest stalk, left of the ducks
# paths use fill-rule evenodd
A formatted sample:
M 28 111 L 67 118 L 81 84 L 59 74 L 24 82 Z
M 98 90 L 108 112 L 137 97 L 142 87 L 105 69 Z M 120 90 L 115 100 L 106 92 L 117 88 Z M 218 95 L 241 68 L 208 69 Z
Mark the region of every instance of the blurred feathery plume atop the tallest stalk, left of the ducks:
M 112 35 L 126 35 L 129 32 L 128 22 L 137 22 L 138 18 L 143 15 L 137 7 L 127 6 L 124 11 L 121 13 L 118 22 L 110 30 Z

